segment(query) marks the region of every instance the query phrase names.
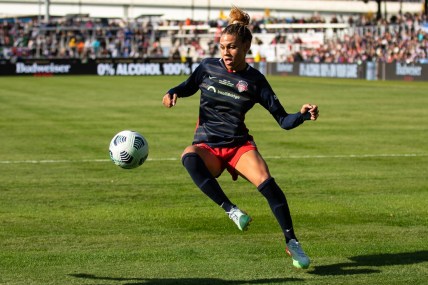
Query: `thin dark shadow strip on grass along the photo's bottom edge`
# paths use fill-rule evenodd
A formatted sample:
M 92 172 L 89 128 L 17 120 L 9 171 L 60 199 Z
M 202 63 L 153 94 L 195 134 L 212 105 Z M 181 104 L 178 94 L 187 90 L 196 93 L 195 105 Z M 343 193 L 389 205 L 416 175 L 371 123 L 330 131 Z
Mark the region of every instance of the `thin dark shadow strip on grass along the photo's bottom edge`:
M 285 284 L 287 282 L 303 281 L 303 279 L 297 278 L 266 278 L 257 280 L 223 280 L 217 278 L 115 278 L 84 273 L 70 274 L 70 276 L 93 280 L 126 282 L 122 283 L 122 285 L 241 285 L 272 283 Z

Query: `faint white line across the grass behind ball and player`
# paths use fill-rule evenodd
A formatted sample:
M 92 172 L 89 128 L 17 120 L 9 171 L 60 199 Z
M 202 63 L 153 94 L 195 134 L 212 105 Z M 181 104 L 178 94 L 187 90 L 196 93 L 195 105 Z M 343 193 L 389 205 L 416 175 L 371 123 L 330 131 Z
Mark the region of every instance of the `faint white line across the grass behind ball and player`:
M 289 155 L 264 156 L 265 159 L 324 159 L 324 158 L 371 158 L 371 157 L 424 157 L 426 153 L 391 153 L 391 154 L 341 154 L 341 155 Z M 179 157 L 155 157 L 147 161 L 176 161 Z M 46 159 L 46 160 L 0 160 L 0 164 L 44 164 L 44 163 L 87 163 L 108 162 L 110 159 Z

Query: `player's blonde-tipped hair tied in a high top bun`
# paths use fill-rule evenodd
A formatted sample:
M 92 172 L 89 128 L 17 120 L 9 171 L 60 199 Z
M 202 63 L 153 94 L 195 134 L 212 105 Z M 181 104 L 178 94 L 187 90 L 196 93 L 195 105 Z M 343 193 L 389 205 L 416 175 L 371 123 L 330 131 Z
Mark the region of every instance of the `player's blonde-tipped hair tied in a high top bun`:
M 229 14 L 229 25 L 223 29 L 222 35 L 234 35 L 238 37 L 242 42 L 250 42 L 253 39 L 248 25 L 250 24 L 250 15 L 239 9 L 236 6 L 232 6 Z

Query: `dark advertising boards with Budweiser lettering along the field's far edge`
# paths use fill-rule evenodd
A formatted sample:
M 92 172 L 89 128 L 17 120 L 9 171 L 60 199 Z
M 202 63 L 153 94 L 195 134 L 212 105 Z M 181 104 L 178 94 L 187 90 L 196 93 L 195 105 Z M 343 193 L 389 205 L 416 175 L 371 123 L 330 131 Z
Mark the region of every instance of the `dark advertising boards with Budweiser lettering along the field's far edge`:
M 253 62 L 265 75 L 350 78 L 366 80 L 428 81 L 428 64 L 405 63 L 309 63 Z M 17 62 L 0 60 L 1 75 L 99 75 L 156 76 L 189 75 L 198 63 L 171 61 L 166 58 L 107 59 L 26 59 Z

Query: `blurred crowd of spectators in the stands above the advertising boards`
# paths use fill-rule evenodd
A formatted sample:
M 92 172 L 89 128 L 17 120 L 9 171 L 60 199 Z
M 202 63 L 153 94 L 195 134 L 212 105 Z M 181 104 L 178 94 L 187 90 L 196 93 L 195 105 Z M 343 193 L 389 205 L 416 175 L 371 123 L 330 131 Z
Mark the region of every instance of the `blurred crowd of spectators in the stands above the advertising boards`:
M 334 29 L 330 36 L 314 46 L 306 45 L 299 33 L 324 33 L 324 28 L 269 29 L 268 24 L 281 23 L 345 23 L 347 28 Z M 124 20 L 81 16 L 52 18 L 48 23 L 37 19 L 3 21 L 0 22 L 0 59 L 192 57 L 198 60 L 218 56 L 219 32 L 225 25 L 226 19 Z M 283 62 L 428 63 L 427 25 L 422 14 L 405 13 L 389 19 L 376 19 L 372 15 L 346 19 L 332 16 L 328 21 L 314 14 L 308 18 L 263 17 L 252 20 L 250 28 L 255 35 L 253 46 L 288 47 L 288 52 L 278 57 Z M 267 34 L 273 35 L 269 42 L 257 37 Z M 263 60 L 260 55 L 250 56 Z

